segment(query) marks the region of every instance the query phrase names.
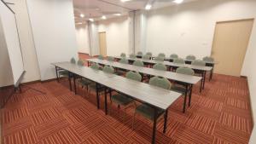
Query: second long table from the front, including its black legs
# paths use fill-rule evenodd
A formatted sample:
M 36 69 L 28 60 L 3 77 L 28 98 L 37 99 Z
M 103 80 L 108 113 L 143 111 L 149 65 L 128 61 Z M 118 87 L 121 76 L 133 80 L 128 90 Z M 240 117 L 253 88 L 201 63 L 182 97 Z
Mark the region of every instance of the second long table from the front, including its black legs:
M 185 75 L 185 74 L 181 74 L 181 73 L 177 73 L 177 72 L 160 71 L 160 70 L 155 70 L 153 68 L 148 68 L 148 67 L 122 64 L 117 61 L 99 60 L 99 59 L 87 59 L 87 60 L 90 62 L 95 62 L 97 64 L 113 66 L 113 67 L 119 68 L 119 69 L 140 72 L 140 73 L 148 74 L 151 76 L 159 76 L 162 78 L 167 78 L 167 79 L 174 80 L 174 81 L 180 82 L 182 84 L 185 84 L 186 92 L 184 94 L 183 112 L 185 112 L 185 109 L 186 109 L 186 99 L 187 99 L 188 91 L 189 91 L 189 107 L 190 107 L 193 85 L 197 84 L 202 79 L 201 77 L 189 76 L 189 75 Z

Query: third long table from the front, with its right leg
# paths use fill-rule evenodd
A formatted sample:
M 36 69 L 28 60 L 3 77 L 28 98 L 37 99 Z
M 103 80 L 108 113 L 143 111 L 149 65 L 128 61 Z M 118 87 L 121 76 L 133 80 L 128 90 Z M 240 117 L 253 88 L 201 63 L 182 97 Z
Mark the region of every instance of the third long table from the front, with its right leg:
M 114 58 L 120 60 L 122 59 L 122 57 L 119 56 L 115 56 Z M 135 61 L 135 60 L 142 60 L 144 63 L 146 64 L 150 64 L 150 65 L 154 65 L 157 63 L 162 63 L 165 66 L 170 66 L 170 67 L 189 67 L 195 71 L 200 71 L 202 74 L 202 79 L 201 79 L 201 87 L 200 87 L 200 92 L 202 89 L 205 88 L 205 83 L 206 83 L 206 75 L 207 72 L 211 72 L 212 71 L 212 67 L 211 66 L 195 66 L 195 65 L 188 65 L 188 64 L 177 64 L 174 62 L 170 62 L 170 61 L 157 61 L 157 60 L 143 60 L 143 59 L 131 59 L 131 58 L 125 58 L 126 60 L 130 60 L 130 61 Z

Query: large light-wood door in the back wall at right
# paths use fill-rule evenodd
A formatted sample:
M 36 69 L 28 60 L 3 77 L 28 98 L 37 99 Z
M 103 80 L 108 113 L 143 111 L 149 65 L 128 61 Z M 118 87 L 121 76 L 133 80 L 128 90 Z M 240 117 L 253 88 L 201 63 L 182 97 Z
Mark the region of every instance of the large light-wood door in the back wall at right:
M 241 67 L 253 28 L 253 19 L 218 22 L 212 43 L 214 72 L 241 76 Z

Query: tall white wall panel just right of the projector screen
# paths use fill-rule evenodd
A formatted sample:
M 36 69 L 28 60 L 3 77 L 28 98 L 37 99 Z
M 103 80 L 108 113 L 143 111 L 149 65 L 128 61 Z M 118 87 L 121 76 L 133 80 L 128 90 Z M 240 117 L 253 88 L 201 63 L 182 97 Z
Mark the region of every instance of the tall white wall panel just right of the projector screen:
M 72 0 L 27 0 L 41 80 L 55 78 L 50 63 L 78 59 Z

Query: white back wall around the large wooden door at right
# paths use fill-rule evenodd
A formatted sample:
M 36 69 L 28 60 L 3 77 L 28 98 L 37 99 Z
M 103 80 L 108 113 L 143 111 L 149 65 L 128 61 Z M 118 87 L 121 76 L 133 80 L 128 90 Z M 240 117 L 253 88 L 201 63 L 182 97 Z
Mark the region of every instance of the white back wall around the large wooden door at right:
M 150 11 L 147 50 L 154 55 L 210 55 L 216 22 L 255 18 L 255 8 L 253 0 L 204 0 Z

